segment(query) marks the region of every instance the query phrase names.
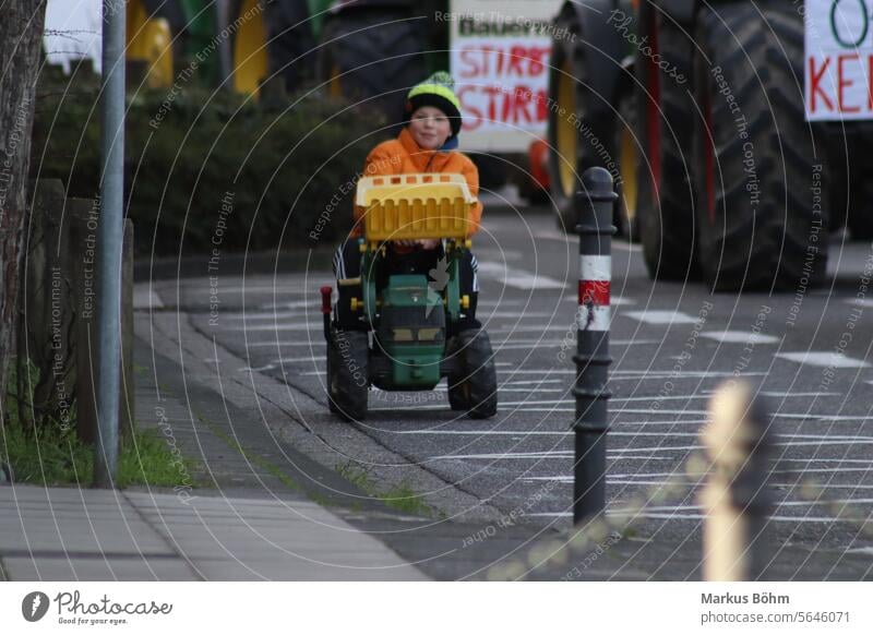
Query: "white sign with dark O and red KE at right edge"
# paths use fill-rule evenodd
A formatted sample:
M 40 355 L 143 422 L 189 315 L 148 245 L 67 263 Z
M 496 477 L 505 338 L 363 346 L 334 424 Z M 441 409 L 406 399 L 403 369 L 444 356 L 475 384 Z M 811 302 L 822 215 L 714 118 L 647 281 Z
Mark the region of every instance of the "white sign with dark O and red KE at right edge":
M 809 121 L 873 117 L 873 0 L 806 0 Z

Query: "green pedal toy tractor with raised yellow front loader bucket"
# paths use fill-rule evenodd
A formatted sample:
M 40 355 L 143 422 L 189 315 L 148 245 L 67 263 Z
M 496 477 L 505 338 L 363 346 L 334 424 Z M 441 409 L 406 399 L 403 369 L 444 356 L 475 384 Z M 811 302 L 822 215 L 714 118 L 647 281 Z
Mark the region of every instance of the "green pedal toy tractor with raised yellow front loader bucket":
M 476 204 L 466 180 L 451 173 L 366 177 L 358 182 L 356 204 L 364 209 L 360 277 L 337 280 L 333 311 L 332 288 L 321 289 L 331 410 L 360 421 L 370 386 L 432 391 L 447 378 L 453 410 L 492 417 L 497 372 L 488 334 L 457 328 L 470 302 L 461 295 L 458 275 L 470 249 L 468 214 Z M 440 240 L 432 264 L 398 271 L 391 243 L 419 239 Z M 337 312 L 347 309 L 356 328 L 339 327 Z

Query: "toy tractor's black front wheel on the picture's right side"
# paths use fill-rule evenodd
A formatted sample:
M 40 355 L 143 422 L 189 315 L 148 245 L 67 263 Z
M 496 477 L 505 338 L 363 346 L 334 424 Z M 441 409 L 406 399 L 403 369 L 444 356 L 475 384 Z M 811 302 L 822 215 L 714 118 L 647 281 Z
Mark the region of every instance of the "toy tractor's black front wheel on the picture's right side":
M 457 356 L 457 372 L 449 378 L 449 405 L 466 410 L 471 419 L 488 419 L 498 411 L 498 376 L 488 333 L 462 331 L 450 354 Z

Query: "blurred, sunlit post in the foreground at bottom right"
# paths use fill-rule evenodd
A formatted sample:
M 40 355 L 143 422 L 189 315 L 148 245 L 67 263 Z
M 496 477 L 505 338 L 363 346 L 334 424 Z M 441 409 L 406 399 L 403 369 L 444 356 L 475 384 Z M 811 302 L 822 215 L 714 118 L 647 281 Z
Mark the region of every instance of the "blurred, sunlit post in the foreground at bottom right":
M 710 463 L 701 494 L 704 579 L 756 579 L 763 570 L 764 527 L 770 513 L 767 489 L 769 421 L 745 382 L 728 382 L 713 397 L 701 441 Z

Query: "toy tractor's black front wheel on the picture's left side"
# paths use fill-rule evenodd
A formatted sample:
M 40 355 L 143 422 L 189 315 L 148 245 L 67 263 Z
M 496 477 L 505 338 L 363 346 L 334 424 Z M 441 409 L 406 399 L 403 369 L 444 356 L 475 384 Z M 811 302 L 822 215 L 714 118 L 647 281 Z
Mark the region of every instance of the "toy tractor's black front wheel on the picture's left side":
M 345 421 L 367 418 L 369 390 L 367 333 L 334 331 L 327 345 L 327 403 Z

